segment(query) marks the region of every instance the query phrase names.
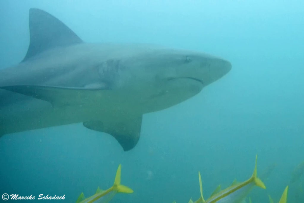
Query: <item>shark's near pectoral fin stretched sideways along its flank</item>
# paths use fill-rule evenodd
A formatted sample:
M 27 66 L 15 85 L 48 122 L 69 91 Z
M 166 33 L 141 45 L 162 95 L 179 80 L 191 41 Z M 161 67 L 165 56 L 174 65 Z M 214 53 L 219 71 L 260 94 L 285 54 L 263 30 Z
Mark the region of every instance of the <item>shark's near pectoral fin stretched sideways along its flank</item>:
M 94 103 L 94 100 L 102 97 L 105 89 L 98 88 L 68 88 L 56 86 L 19 85 L 0 87 L 11 92 L 16 92 L 35 99 L 50 102 L 53 107 L 70 105 L 84 105 Z

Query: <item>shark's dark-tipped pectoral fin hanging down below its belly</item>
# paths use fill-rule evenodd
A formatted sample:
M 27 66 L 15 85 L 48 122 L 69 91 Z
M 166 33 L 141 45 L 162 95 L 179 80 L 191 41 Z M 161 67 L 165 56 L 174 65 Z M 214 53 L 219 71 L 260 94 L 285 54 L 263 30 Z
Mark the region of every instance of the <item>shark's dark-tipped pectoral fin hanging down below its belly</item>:
M 141 121 L 142 116 L 111 124 L 102 121 L 86 121 L 83 125 L 91 130 L 112 135 L 123 147 L 123 150 L 128 151 L 133 149 L 139 140 Z

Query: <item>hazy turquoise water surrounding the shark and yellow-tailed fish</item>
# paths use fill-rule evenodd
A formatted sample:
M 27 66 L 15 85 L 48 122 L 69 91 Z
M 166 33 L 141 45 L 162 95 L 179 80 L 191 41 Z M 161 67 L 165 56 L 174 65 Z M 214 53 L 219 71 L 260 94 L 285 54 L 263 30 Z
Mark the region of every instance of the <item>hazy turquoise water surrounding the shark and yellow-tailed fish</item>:
M 29 44 L 28 11 L 43 9 L 86 42 L 152 43 L 225 58 L 232 70 L 195 97 L 145 114 L 141 137 L 123 152 L 110 135 L 82 124 L 0 138 L 0 194 L 65 194 L 75 202 L 98 186 L 133 194 L 112 202 L 188 202 L 199 198 L 198 171 L 209 197 L 218 184 L 244 181 L 254 169 L 266 190 L 253 202 L 278 202 L 304 160 L 304 3 L 301 1 L 1 1 L 0 68 L 19 63 Z M 304 202 L 304 177 L 288 202 Z M 302 182 L 301 182 L 302 181 Z M 303 189 L 302 189 L 303 190 Z

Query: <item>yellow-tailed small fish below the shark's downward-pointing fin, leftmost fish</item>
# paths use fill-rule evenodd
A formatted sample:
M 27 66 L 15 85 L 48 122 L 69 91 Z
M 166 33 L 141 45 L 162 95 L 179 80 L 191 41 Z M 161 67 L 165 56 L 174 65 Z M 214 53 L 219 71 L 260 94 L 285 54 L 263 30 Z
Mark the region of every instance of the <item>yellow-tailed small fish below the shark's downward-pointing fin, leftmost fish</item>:
M 118 169 L 116 171 L 116 176 L 114 180 L 114 184 L 107 190 L 101 190 L 99 187 L 94 195 L 85 199 L 85 195 L 83 192 L 79 195 L 76 203 L 90 203 L 90 202 L 99 202 L 106 203 L 109 202 L 116 193 L 133 193 L 133 190 L 127 186 L 120 184 L 120 176 L 121 176 L 121 164 L 119 164 Z

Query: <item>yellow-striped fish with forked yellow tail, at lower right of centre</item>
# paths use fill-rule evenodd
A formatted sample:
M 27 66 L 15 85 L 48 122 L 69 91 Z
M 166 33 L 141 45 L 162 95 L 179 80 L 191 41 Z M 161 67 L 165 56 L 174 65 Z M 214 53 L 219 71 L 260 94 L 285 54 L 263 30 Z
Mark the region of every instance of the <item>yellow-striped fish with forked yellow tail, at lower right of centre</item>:
M 222 190 L 212 195 L 207 200 L 205 200 L 203 197 L 202 178 L 199 172 L 199 186 L 200 186 L 201 197 L 194 203 L 242 202 L 254 185 L 266 189 L 264 183 L 257 177 L 257 156 L 255 157 L 254 172 L 248 180 L 242 183 L 233 184 L 232 186 L 227 187 L 225 190 Z M 193 202 L 193 201 L 190 200 L 189 202 Z

